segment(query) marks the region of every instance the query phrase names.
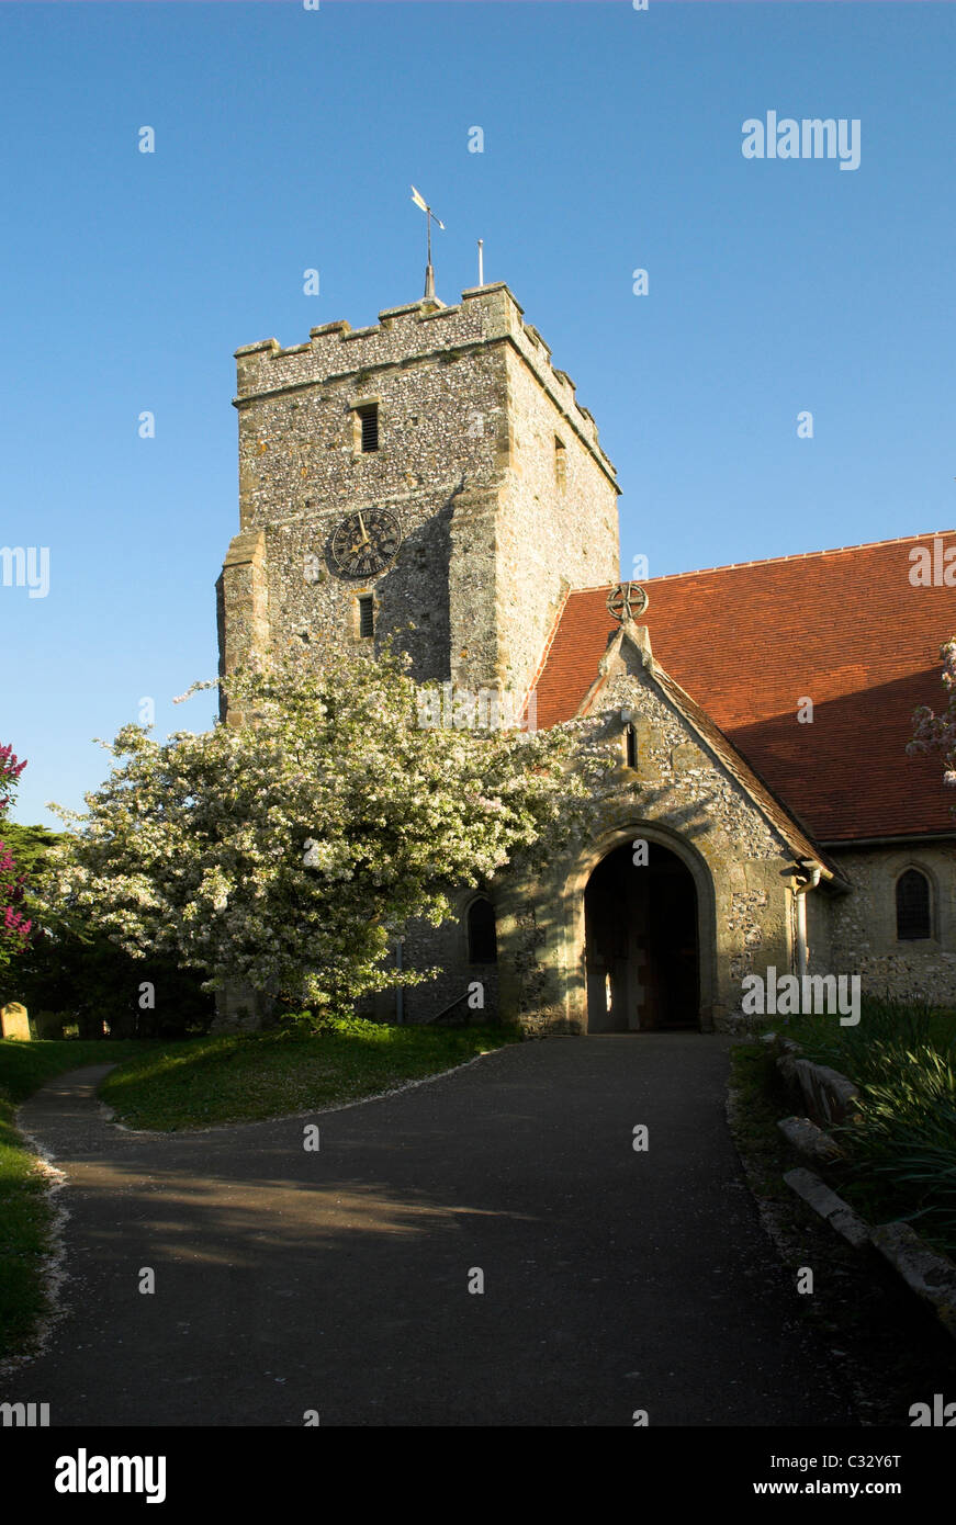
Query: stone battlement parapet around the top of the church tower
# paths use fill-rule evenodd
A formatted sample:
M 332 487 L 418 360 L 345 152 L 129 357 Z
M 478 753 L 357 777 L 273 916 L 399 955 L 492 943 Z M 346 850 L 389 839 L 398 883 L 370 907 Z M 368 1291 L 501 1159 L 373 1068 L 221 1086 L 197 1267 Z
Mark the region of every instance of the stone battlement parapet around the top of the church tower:
M 550 360 L 550 349 L 537 328 L 526 323 L 523 310 L 505 282 L 462 291 L 454 307 L 436 299 L 386 308 L 378 323 L 351 328 L 345 320 L 310 329 L 305 345 L 284 349 L 276 339 L 244 345 L 235 351 L 238 409 L 264 396 L 302 387 L 361 378 L 371 383 L 377 371 L 409 366 L 415 361 L 453 357 L 483 345 L 511 345 L 534 372 L 552 403 L 614 480 L 616 471 L 601 450 L 598 425 L 575 395 L 575 383 Z

